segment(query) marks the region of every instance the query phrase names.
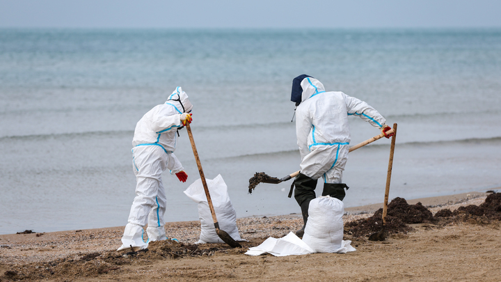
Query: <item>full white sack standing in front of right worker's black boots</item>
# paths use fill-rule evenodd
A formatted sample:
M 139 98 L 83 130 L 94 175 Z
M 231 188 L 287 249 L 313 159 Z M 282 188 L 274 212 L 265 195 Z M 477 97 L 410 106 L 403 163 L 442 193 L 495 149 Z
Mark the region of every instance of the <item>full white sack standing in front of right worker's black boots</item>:
M 337 198 L 321 196 L 310 201 L 303 242 L 317 253 L 355 251 L 351 241 L 342 240 L 343 213 L 344 205 Z

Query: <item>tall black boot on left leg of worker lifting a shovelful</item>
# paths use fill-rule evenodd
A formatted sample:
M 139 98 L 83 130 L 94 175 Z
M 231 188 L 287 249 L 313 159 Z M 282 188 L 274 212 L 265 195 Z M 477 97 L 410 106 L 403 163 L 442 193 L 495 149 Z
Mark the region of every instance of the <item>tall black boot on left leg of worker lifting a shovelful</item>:
M 317 180 L 299 173 L 294 180 L 294 198 L 296 198 L 297 203 L 301 207 L 301 213 L 303 214 L 303 228 L 296 231 L 298 237 L 303 237 L 304 228 L 306 227 L 306 221 L 308 221 L 308 207 L 310 207 L 310 201 L 317 197 L 315 194 L 315 188 L 317 187 Z

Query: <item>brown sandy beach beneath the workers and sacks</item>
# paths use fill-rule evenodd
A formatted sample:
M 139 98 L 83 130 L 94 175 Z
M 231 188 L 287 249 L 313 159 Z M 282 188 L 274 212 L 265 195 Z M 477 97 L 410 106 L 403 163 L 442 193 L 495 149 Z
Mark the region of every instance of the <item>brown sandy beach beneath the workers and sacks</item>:
M 248 240 L 241 249 L 194 244 L 199 221 L 166 224 L 167 236 L 179 243 L 153 242 L 148 251 L 136 253 L 115 251 L 123 226 L 0 235 L 0 281 L 499 281 L 499 195 L 472 192 L 407 201 L 410 210 L 429 211 L 433 217 L 390 230 L 384 241 L 369 241 L 367 231 L 356 234 L 378 217 L 382 204 L 349 208 L 343 217 L 344 240 L 357 250 L 345 254 L 244 254 L 268 237 L 300 228 L 299 214 L 237 219 L 242 239 Z M 498 202 L 489 200 L 489 213 L 486 199 L 493 196 Z M 484 206 L 480 214 L 468 212 Z M 393 224 L 390 207 L 388 222 Z M 452 213 L 439 217 L 444 210 Z

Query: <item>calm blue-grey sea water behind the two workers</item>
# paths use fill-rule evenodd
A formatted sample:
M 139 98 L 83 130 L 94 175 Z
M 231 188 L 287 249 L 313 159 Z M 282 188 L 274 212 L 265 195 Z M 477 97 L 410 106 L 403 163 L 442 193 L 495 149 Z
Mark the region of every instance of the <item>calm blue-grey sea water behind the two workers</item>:
M 134 198 L 136 122 L 176 86 L 193 102 L 207 178 L 237 217 L 299 213 L 292 79 L 365 100 L 398 124 L 390 199 L 501 187 L 500 29 L 0 29 L 0 234 L 124 226 Z M 354 145 L 379 134 L 351 117 Z M 166 221 L 198 219 L 185 131 L 164 173 Z M 345 207 L 383 201 L 390 141 L 349 155 Z M 321 184 L 317 190 L 321 192 Z

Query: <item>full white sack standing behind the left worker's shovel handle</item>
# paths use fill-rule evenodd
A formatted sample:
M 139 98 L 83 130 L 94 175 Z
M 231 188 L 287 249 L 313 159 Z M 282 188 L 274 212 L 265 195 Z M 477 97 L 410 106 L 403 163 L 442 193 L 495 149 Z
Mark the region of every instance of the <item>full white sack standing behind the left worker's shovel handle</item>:
M 223 177 L 217 175 L 213 180 L 206 179 L 209 194 L 211 196 L 212 205 L 219 224 L 219 229 L 225 231 L 235 241 L 240 241 L 240 234 L 237 228 L 237 212 L 235 212 L 233 205 L 228 195 L 228 187 L 226 186 Z M 202 180 L 198 178 L 191 184 L 184 194 L 191 198 L 191 200 L 198 203 L 198 217 L 200 218 L 200 240 L 197 244 L 205 243 L 223 243 L 223 240 L 217 235 L 216 228 L 214 228 L 214 220 L 207 204 L 207 196 L 202 185 Z

